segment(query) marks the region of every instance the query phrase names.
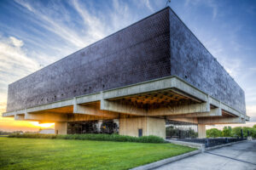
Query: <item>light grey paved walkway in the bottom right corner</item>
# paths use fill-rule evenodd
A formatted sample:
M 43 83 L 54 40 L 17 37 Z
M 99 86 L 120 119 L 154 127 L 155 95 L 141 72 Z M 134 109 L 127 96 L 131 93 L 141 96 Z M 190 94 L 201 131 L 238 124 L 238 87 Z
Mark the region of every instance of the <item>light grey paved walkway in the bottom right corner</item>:
M 256 140 L 209 150 L 180 161 L 174 161 L 156 169 L 256 170 Z

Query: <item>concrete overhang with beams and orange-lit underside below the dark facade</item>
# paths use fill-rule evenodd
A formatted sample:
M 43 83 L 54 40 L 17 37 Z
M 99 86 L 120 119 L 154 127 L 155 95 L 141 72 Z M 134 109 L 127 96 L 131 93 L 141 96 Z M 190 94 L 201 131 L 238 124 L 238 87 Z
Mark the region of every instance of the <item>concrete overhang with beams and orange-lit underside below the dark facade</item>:
M 15 120 L 72 122 L 122 116 L 158 116 L 201 124 L 242 123 L 245 113 L 172 76 L 3 113 Z M 195 121 L 196 120 L 196 121 Z

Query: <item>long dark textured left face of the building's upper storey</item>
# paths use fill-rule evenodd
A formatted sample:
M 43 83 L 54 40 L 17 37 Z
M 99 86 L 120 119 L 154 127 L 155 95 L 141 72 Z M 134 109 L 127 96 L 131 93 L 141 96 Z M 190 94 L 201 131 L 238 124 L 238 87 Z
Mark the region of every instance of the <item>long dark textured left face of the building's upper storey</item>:
M 166 8 L 10 84 L 7 111 L 170 76 L 169 23 Z

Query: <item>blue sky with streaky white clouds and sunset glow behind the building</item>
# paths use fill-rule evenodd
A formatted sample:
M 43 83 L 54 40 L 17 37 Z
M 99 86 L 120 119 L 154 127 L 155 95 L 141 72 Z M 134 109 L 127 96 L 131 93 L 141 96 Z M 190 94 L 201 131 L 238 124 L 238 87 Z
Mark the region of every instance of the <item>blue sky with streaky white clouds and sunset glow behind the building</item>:
M 247 126 L 256 124 L 256 1 L 172 0 L 169 6 L 244 89 Z M 166 0 L 1 0 L 0 112 L 9 83 L 165 7 Z M 38 127 L 0 117 L 0 130 Z

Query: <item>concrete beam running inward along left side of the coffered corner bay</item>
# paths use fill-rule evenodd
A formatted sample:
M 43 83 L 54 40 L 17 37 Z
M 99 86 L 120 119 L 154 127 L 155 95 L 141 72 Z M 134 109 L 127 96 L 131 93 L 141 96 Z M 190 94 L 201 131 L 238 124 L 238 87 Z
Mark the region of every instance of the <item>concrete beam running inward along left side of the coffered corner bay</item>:
M 130 103 L 120 103 L 117 101 L 108 101 L 107 99 L 101 100 L 101 110 L 119 112 L 135 116 L 147 115 L 143 108 L 139 108 L 136 105 L 131 105 Z

